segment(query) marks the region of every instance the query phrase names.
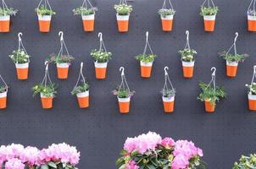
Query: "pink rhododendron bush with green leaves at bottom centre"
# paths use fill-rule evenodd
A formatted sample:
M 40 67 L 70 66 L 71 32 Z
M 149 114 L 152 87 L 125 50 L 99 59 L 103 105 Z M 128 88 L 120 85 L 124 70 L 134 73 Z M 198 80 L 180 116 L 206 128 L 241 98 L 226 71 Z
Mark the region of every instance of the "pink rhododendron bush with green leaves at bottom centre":
M 116 161 L 119 169 L 197 169 L 205 168 L 203 150 L 192 141 L 164 138 L 149 132 L 127 138 L 121 157 Z

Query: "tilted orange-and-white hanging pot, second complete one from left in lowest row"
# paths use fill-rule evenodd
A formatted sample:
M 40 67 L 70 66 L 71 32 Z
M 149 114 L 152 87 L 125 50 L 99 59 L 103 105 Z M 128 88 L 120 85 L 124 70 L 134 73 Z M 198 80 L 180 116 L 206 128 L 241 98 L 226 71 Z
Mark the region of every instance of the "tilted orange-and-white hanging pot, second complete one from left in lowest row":
M 83 70 L 83 63 L 81 63 L 80 74 L 78 76 L 77 82 L 75 84 L 74 89 L 71 91 L 72 95 L 76 95 L 77 101 L 80 108 L 87 108 L 89 107 L 89 85 L 86 83 L 86 79 L 82 72 Z M 79 85 L 81 79 L 81 85 Z

